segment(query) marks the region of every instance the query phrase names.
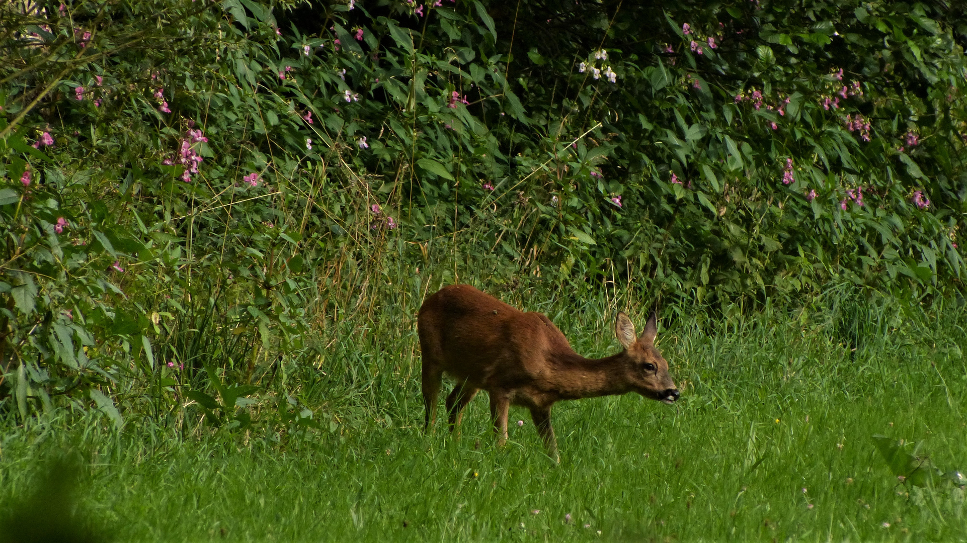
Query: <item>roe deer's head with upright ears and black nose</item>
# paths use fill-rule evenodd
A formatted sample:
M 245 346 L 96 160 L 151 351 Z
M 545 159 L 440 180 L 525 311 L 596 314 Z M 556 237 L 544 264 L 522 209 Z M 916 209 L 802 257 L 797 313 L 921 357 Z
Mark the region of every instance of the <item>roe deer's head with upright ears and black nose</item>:
M 630 389 L 646 398 L 659 400 L 666 404 L 678 400 L 678 387 L 668 373 L 668 361 L 655 348 L 658 335 L 658 314 L 652 311 L 644 331 L 637 335 L 628 315 L 619 312 L 614 323 L 618 341 L 625 347 L 625 378 Z

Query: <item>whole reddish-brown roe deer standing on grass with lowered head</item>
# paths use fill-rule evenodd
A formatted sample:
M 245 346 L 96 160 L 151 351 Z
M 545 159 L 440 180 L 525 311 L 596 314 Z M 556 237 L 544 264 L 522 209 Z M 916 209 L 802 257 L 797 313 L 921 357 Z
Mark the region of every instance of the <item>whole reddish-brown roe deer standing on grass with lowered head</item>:
M 625 350 L 601 359 L 581 357 L 542 313 L 521 312 L 470 285 L 451 285 L 427 298 L 417 317 L 423 351 L 424 430 L 436 418 L 443 374 L 456 381 L 447 396 L 450 429 L 483 388 L 497 442 L 507 442 L 510 405 L 531 411 L 547 454 L 558 461 L 550 408 L 559 400 L 638 392 L 666 404 L 678 399 L 668 362 L 655 348 L 653 311 L 641 336 L 618 313 L 615 334 Z

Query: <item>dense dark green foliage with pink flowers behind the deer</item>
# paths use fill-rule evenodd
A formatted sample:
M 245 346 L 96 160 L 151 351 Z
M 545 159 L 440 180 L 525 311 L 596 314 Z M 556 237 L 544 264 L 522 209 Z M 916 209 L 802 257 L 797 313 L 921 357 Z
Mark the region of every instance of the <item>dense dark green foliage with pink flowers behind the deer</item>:
M 2 10 L 0 401 L 23 420 L 187 395 L 244 426 L 337 321 L 409 333 L 394 300 L 457 277 L 728 309 L 965 273 L 967 19 L 943 4 Z M 279 420 L 311 423 L 298 403 Z

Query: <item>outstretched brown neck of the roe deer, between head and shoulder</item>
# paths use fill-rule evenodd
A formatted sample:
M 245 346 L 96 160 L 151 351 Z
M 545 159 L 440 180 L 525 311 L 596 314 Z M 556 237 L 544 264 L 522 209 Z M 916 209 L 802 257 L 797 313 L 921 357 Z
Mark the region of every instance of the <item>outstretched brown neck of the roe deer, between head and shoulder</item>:
M 571 353 L 559 360 L 556 391 L 562 399 L 593 398 L 624 394 L 630 390 L 622 353 L 603 358 L 585 358 Z

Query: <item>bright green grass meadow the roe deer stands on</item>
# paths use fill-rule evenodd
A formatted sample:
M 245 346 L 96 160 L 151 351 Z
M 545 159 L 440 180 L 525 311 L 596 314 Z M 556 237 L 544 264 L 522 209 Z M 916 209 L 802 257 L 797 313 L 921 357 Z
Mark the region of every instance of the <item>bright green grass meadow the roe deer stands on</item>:
M 578 352 L 616 349 L 606 300 L 544 309 Z M 861 303 L 666 322 L 659 347 L 682 400 L 558 404 L 560 466 L 520 409 L 497 449 L 484 393 L 457 439 L 422 435 L 406 328 L 335 346 L 329 381 L 289 374 L 332 432 L 181 438 L 129 414 L 118 436 L 97 414 L 62 415 L 5 431 L 0 496 L 24 496 L 45 459 L 75 450 L 80 510 L 122 541 L 967 540 L 964 491 L 901 483 L 871 440 L 919 443 L 945 471 L 967 469 L 963 309 Z

